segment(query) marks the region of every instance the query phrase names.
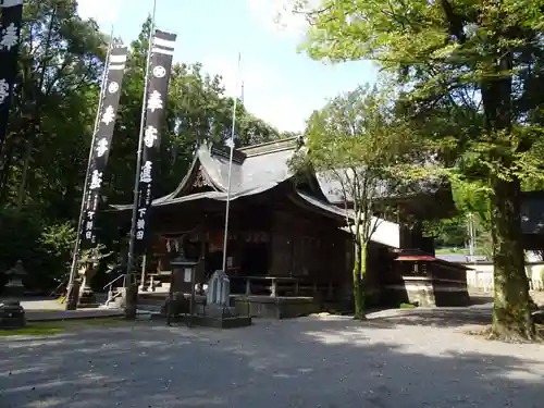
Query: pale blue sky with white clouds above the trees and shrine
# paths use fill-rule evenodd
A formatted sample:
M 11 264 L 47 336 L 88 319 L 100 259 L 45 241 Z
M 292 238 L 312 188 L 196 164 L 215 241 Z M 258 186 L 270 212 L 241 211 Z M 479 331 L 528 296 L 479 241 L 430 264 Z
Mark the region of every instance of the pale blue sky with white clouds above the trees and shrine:
M 327 98 L 375 81 L 368 62 L 339 65 L 312 61 L 297 52 L 304 22 L 284 14 L 285 0 L 158 0 L 157 26 L 177 34 L 175 61 L 201 62 L 224 77 L 230 95 L 236 87 L 237 53 L 242 52 L 244 101 L 247 109 L 280 131 L 302 131 L 305 121 Z M 152 0 L 78 0 L 84 17 L 102 29 L 114 23 L 125 42 L 138 35 Z

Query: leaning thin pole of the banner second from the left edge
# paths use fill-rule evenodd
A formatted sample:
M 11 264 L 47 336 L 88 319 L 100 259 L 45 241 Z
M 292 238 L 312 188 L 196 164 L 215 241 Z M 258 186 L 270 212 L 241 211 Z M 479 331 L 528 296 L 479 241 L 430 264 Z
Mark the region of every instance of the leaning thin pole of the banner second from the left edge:
M 74 289 L 74 282 L 75 282 L 75 276 L 77 273 L 77 260 L 79 258 L 79 244 L 81 244 L 81 237 L 82 237 L 82 227 L 83 227 L 83 217 L 85 212 L 85 199 L 88 194 L 88 186 L 87 186 L 87 181 L 89 178 L 89 172 L 90 172 L 90 161 L 92 159 L 92 151 L 95 149 L 95 143 L 96 143 L 96 137 L 97 137 L 97 132 L 98 132 L 98 125 L 100 124 L 100 112 L 102 111 L 102 102 L 103 102 L 103 96 L 106 94 L 106 81 L 108 78 L 108 67 L 110 65 L 110 54 L 111 54 L 111 49 L 113 47 L 113 24 L 111 25 L 111 30 L 110 30 L 110 42 L 108 45 L 108 51 L 106 53 L 106 65 L 102 72 L 102 81 L 100 84 L 100 96 L 98 98 L 98 108 L 97 108 L 97 115 L 95 118 L 95 126 L 92 127 L 92 137 L 90 140 L 90 149 L 89 149 L 89 158 L 87 160 L 87 171 L 85 173 L 85 183 L 83 187 L 83 196 L 82 196 L 82 206 L 79 208 L 79 220 L 77 221 L 77 235 L 75 238 L 75 244 L 74 244 L 74 254 L 72 255 L 72 267 L 70 268 L 70 277 L 69 277 L 69 284 L 66 287 L 66 309 L 75 309 L 76 305 L 74 305 L 73 301 L 70 301 L 75 294 L 73 294 Z

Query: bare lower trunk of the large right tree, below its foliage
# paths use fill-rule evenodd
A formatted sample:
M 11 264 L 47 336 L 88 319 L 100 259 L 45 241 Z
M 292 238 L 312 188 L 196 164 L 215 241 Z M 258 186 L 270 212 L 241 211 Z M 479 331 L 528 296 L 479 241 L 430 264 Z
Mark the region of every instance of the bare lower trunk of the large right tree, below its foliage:
M 519 181 L 492 176 L 493 335 L 506 341 L 534 339 L 519 212 Z

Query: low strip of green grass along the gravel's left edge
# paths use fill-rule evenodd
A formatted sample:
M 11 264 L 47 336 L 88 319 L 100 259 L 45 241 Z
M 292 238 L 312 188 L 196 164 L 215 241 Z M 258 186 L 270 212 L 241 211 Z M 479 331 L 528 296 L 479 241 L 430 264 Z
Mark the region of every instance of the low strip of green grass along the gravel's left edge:
M 84 330 L 86 327 L 108 327 L 129 325 L 132 322 L 122 318 L 104 319 L 66 319 L 51 322 L 28 322 L 26 327 L 0 330 L 2 336 L 52 336 L 55 334 Z

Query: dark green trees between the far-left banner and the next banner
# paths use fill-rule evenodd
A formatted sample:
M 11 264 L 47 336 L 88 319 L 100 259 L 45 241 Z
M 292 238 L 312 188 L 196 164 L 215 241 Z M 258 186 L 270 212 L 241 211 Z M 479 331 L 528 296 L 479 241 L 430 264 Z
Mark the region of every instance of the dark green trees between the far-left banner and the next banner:
M 0 152 L 0 272 L 21 259 L 28 286 L 47 289 L 71 255 L 106 38 L 73 0 L 25 1 L 23 17 Z

